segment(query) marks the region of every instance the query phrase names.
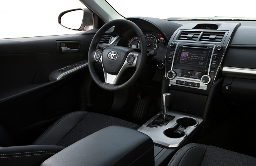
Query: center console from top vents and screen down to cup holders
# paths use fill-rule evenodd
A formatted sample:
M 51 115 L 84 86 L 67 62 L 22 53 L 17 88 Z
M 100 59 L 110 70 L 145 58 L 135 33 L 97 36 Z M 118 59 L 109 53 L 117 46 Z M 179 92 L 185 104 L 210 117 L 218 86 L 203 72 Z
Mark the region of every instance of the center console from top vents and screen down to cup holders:
M 212 92 L 218 92 L 214 88 L 220 84 L 220 66 L 239 26 L 239 23 L 220 22 L 185 24 L 170 38 L 162 83 L 163 110 L 138 129 L 150 136 L 155 146 L 166 149 L 166 156 L 167 153 L 173 155 L 192 138 L 197 140 L 202 135 L 203 125 L 210 122 L 207 114 L 214 109 L 210 108 Z M 166 95 L 171 95 L 168 110 Z M 158 158 L 161 157 L 155 156 L 155 165 L 161 165 L 166 157 L 157 164 Z

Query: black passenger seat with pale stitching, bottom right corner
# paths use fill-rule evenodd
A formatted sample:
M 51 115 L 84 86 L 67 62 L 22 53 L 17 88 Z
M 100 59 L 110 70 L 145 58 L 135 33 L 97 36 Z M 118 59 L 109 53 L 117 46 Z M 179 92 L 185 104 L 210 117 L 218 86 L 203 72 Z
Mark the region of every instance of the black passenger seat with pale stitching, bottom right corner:
M 168 166 L 256 166 L 256 158 L 204 144 L 188 144 Z

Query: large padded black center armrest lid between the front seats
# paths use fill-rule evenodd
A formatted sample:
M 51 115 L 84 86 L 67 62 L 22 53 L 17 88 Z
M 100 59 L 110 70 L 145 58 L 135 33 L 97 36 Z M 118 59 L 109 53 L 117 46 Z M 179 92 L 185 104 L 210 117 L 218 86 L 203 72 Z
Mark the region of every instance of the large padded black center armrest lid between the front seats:
M 109 126 L 75 142 L 41 166 L 154 166 L 154 142 L 130 128 Z

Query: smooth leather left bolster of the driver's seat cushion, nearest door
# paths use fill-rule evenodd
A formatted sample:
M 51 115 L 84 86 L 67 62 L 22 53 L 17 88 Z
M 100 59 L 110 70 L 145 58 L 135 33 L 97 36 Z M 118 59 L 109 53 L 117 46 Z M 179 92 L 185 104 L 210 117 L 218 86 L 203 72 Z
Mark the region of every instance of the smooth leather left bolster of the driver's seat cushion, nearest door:
M 57 145 L 72 128 L 87 114 L 86 111 L 76 111 L 62 116 L 46 129 L 35 141 L 34 145 Z

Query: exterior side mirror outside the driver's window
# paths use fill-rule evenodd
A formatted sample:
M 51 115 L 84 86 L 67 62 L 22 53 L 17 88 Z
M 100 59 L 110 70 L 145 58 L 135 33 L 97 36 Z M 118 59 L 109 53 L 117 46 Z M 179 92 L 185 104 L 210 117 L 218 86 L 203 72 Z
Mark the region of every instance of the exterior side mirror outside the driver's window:
M 72 30 L 90 30 L 93 28 L 92 12 L 87 8 L 67 10 L 60 13 L 58 22 Z

